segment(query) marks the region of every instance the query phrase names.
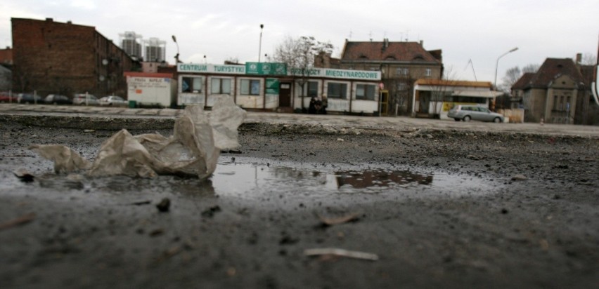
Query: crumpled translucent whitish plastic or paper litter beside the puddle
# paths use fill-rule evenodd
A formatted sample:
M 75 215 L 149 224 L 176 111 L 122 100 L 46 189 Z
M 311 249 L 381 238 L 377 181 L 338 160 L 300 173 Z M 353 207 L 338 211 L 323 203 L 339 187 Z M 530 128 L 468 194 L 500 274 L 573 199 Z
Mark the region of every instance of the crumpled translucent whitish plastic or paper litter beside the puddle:
M 228 96 L 214 102 L 210 116 L 200 105 L 185 108 L 176 119 L 170 137 L 160 134 L 131 135 L 120 130 L 106 140 L 93 162 L 63 145 L 30 147 L 45 159 L 54 161 L 56 173 L 86 170 L 93 177 L 156 175 L 209 177 L 217 168 L 221 150 L 238 149 L 238 130 L 246 112 Z

